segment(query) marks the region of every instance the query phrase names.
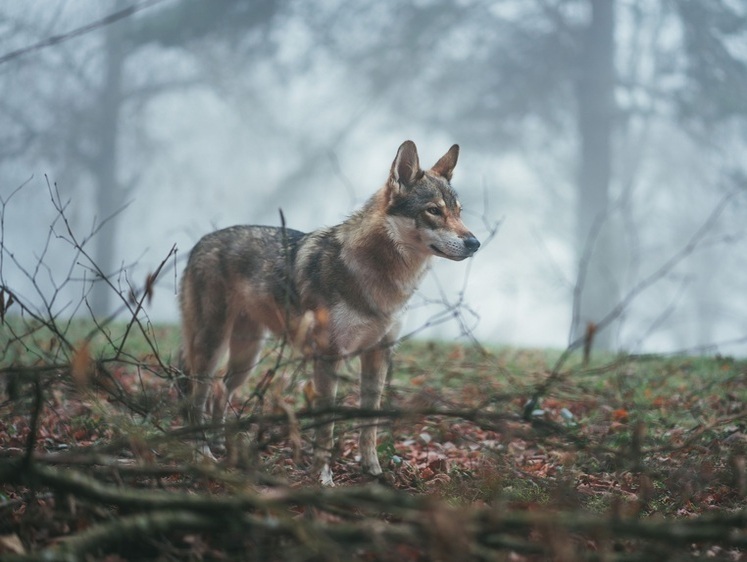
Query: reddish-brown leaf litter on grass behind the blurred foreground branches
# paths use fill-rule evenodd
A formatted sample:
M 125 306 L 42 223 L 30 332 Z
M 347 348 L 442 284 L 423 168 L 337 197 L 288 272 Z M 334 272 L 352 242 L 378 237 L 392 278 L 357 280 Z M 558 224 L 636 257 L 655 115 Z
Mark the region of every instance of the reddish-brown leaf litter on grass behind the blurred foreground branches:
M 594 358 L 584 367 L 579 361 L 549 387 L 530 419 L 524 419 L 522 408 L 548 376 L 556 355 L 510 348 L 484 353 L 453 344 L 402 345 L 384 406 L 387 415 L 380 419 L 379 455 L 387 473 L 386 488 L 431 498 L 427 516 L 433 518 L 434 528 L 442 529 L 449 528 L 455 517 L 465 525 L 472 521 L 473 527 L 481 517 L 554 513 L 590 521 L 656 523 L 726 516 L 747 508 L 745 363 L 730 358 L 610 356 Z M 260 400 L 252 397 L 251 388 L 235 399 L 232 411 L 239 421 L 247 415 L 261 418 L 279 412 L 285 423 L 245 424 L 237 431 L 241 451 L 227 455 L 213 470 L 208 465 L 185 468 L 191 466 L 191 459 L 184 456 L 189 444 L 173 435 L 182 419 L 176 407 L 179 395 L 167 374 L 145 355 L 143 363 L 107 364 L 105 372 L 96 365 L 101 367 L 92 351 L 80 347 L 70 371 L 46 381 L 34 444 L 40 462 L 64 461 L 65 466 L 85 468 L 120 486 L 218 497 L 242 489 L 271 495 L 282 493 L 273 490 L 316 487 L 310 471 L 313 424 L 306 425 L 308 418 L 303 417 L 309 402 L 303 368 L 275 375 L 273 390 Z M 260 374 L 255 375 L 259 379 Z M 342 407 L 357 404 L 356 388 L 354 375 L 343 375 Z M 22 455 L 29 443 L 31 395 L 8 397 L 0 408 L 0 447 L 4 455 Z M 363 423 L 371 419 L 351 416 L 337 424 L 333 471 L 338 489 L 377 485 L 360 474 L 357 430 Z M 55 455 L 62 456 L 57 460 Z M 103 506 L 68 499 L 70 505 L 62 509 L 60 501 L 43 488 L 2 485 L 0 553 L 37 552 L 107 520 Z M 311 516 L 340 528 L 361 521 L 371 528 L 392 527 L 405 517 L 396 509 L 372 516 L 365 510 L 333 512 L 302 503 L 288 506 L 288 514 Z M 646 537 L 616 537 L 612 527 L 600 538 L 598 532 L 583 530 L 586 523 L 571 533 L 567 527 L 553 530 L 547 525 L 530 520 L 514 542 L 491 535 L 498 547 L 486 539 L 480 548 L 468 549 L 470 555 L 464 559 L 495 555 L 544 560 L 548 552 L 554 559 L 636 559 L 640 554 L 638 559 L 645 560 L 651 552 L 657 559 L 747 559 L 736 539 L 708 541 L 694 535 L 679 549 L 661 551 L 659 543 L 651 546 Z M 460 533 L 458 540 L 449 540 L 456 544 L 465 537 Z M 262 542 L 232 540 L 235 544 L 189 532 L 166 542 L 152 539 L 138 555 L 164 560 L 185 553 L 194 559 L 231 558 Z M 369 547 L 356 551 L 354 558 L 436 556 L 429 541 L 406 536 L 386 540 L 392 541 L 396 557 L 387 558 L 386 549 Z M 274 558 L 272 545 L 262 544 L 269 548 L 267 559 L 288 554 L 283 550 L 287 546 L 279 544 L 277 551 L 284 554 Z M 492 545 L 490 555 L 483 552 L 486 544 Z M 446 555 L 451 547 L 442 547 L 442 559 L 460 559 L 454 553 Z M 299 554 L 302 547 L 295 548 L 294 556 L 306 559 Z M 608 551 L 609 556 L 604 554 Z M 661 552 L 666 553 L 663 558 Z M 330 551 L 329 559 L 334 558 Z

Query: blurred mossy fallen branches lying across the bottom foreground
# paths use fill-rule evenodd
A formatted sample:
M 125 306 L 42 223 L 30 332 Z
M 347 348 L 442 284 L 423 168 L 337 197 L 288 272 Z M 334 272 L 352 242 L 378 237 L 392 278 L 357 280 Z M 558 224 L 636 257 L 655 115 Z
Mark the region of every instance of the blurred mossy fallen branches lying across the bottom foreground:
M 692 543 L 718 543 L 743 548 L 747 536 L 747 511 L 706 515 L 686 520 L 660 520 L 601 517 L 579 512 L 552 510 L 516 511 L 494 507 L 453 508 L 426 496 L 378 485 L 338 489 L 270 489 L 261 493 L 242 491 L 231 495 L 190 495 L 157 490 L 118 488 L 97 482 L 72 471 L 32 465 L 24 471 L 21 462 L 0 465 L 4 482 L 26 483 L 52 489 L 56 494 L 74 494 L 79 500 L 116 506 L 133 512 L 93 525 L 60 545 L 31 556 L 7 560 L 84 560 L 108 552 L 129 541 L 145 537 L 157 539 L 173 533 L 257 533 L 257 536 L 284 536 L 302 545 L 305 551 L 323 552 L 326 559 L 344 559 L 347 548 L 380 550 L 382 545 L 407 544 L 429 552 L 438 541 L 451 541 L 465 549 L 462 554 L 483 555 L 511 550 L 526 554 L 553 553 L 552 541 L 527 542 L 523 537 L 540 533 L 604 537 L 648 541 L 681 548 Z M 302 509 L 310 517 L 295 518 Z M 314 515 L 336 513 L 334 519 Z M 139 511 L 139 512 L 138 512 Z M 351 520 L 340 519 L 350 513 Z M 378 516 L 389 513 L 388 523 Z M 451 537 L 449 533 L 454 533 Z M 458 533 L 458 538 L 457 538 Z M 548 535 L 548 536 L 550 536 Z M 602 540 L 602 539 L 599 539 Z M 435 541 L 435 542 L 434 542 Z M 575 550 L 578 550 L 574 547 Z M 597 559 L 593 552 L 579 552 L 578 559 Z M 607 560 L 618 560 L 610 554 Z M 625 557 L 625 559 L 636 559 Z

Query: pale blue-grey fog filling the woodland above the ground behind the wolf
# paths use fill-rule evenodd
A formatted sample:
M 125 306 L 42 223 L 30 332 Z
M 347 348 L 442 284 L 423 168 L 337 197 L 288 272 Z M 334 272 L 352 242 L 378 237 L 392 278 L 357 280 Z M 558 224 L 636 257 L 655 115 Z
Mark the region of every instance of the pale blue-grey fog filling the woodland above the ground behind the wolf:
M 406 333 L 744 355 L 746 45 L 728 1 L 5 2 L 8 314 L 103 317 L 92 263 L 126 297 L 165 261 L 145 313 L 175 322 L 203 234 L 340 222 L 411 139 L 460 145 L 485 243 Z

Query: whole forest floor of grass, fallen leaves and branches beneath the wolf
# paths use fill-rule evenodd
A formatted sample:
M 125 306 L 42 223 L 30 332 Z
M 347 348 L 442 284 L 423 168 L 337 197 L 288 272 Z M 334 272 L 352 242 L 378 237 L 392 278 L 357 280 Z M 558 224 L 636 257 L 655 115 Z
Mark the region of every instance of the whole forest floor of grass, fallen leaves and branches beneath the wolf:
M 373 480 L 356 365 L 315 412 L 308 365 L 271 349 L 232 404 L 230 452 L 196 459 L 176 329 L 122 330 L 0 342 L 3 559 L 747 560 L 744 361 L 558 368 L 557 351 L 405 342 Z M 325 489 L 310 466 L 328 419 Z

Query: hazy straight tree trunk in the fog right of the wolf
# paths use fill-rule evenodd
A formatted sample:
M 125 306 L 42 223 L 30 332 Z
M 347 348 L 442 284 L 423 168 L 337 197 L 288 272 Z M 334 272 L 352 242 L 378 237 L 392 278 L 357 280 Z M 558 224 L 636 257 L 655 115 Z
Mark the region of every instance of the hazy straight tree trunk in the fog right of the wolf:
M 608 219 L 615 114 L 615 3 L 589 0 L 591 18 L 581 44 L 577 89 L 580 167 L 576 250 L 578 291 L 572 339 L 598 324 L 617 304 L 616 255 Z M 614 326 L 596 332 L 595 344 L 609 348 Z

